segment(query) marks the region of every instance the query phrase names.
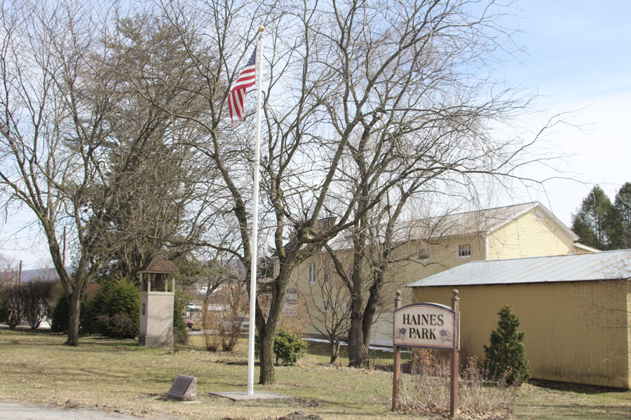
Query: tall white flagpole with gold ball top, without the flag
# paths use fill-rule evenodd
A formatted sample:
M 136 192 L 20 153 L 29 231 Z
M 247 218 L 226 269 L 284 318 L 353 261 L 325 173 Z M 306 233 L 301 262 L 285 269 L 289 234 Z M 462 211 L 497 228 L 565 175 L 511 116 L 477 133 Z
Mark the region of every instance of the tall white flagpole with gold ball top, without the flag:
M 259 235 L 259 166 L 261 161 L 261 104 L 263 97 L 263 26 L 259 26 L 257 78 L 257 139 L 254 167 L 254 209 L 252 210 L 252 261 L 250 265 L 250 328 L 247 338 L 247 395 L 254 395 L 254 340 L 257 309 L 257 236 Z

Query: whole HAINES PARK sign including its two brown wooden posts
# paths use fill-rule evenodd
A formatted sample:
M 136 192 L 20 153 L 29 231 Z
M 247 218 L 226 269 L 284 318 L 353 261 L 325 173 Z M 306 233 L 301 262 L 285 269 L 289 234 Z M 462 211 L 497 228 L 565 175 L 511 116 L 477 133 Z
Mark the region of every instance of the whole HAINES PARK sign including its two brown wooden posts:
M 417 303 L 400 307 L 401 292 L 397 292 L 393 314 L 393 388 L 392 409 L 399 406 L 401 347 L 426 347 L 452 352 L 449 384 L 449 416 L 458 408 L 458 351 L 460 347 L 460 309 L 458 290 L 453 291 L 452 307 L 439 303 Z

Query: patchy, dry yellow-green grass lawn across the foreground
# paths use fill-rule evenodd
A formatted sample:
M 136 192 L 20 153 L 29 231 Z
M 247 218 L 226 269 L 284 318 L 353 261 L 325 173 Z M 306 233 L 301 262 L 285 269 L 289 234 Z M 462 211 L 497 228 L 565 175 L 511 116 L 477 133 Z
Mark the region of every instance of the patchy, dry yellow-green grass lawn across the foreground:
M 179 351 L 147 349 L 134 340 L 86 337 L 78 347 L 49 332 L 0 331 L 0 398 L 98 407 L 159 419 L 275 419 L 300 410 L 323 419 L 436 419 L 391 413 L 392 376 L 379 367 L 355 370 L 328 365 L 325 346 L 311 343 L 298 366 L 276 367 L 265 390 L 292 395 L 294 405 L 235 403 L 212 391 L 246 391 L 247 340 L 233 353 L 210 353 L 200 336 Z M 391 353 L 376 352 L 376 364 Z M 177 374 L 197 377 L 197 401 L 173 402 L 164 395 Z M 255 371 L 258 377 L 258 367 Z M 517 419 L 630 419 L 631 393 L 550 384 L 522 386 Z

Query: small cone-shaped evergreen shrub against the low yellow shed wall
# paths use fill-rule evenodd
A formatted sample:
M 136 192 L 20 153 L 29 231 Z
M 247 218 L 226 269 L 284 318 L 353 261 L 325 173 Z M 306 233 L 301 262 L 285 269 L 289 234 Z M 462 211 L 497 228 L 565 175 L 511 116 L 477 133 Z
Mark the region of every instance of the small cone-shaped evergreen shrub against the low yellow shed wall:
M 521 384 L 528 381 L 531 374 L 526 358 L 524 339 L 520 332 L 520 318 L 505 306 L 497 313 L 497 330 L 491 332 L 491 345 L 484 345 L 486 360 L 482 367 L 492 377 L 506 377 L 508 384 Z

